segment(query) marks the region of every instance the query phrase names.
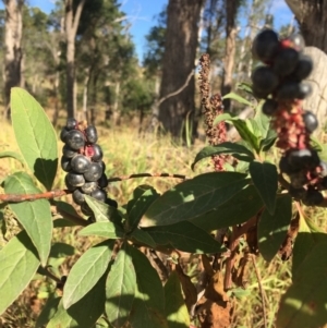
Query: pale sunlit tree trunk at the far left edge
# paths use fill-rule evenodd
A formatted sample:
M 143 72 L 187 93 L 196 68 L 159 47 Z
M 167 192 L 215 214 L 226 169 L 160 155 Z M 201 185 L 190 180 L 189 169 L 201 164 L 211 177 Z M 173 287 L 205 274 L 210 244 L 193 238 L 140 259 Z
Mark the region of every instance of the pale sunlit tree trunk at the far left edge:
M 5 0 L 5 32 L 4 32 L 4 98 L 5 116 L 10 118 L 10 90 L 21 85 L 22 63 L 22 7 L 24 0 Z

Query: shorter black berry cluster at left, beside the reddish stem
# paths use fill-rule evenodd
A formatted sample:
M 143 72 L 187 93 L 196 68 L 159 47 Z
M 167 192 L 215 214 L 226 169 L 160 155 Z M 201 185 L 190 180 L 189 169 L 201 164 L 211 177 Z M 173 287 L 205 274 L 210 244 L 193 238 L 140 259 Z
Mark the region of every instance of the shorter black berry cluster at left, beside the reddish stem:
M 61 168 L 68 172 L 65 185 L 72 192 L 73 201 L 81 205 L 82 212 L 86 216 L 93 214 L 84 195 L 117 207 L 117 202 L 108 198 L 105 191 L 108 179 L 105 173 L 102 149 L 96 144 L 98 141 L 96 127 L 87 125 L 86 121 L 68 119 L 60 138 L 64 143 Z

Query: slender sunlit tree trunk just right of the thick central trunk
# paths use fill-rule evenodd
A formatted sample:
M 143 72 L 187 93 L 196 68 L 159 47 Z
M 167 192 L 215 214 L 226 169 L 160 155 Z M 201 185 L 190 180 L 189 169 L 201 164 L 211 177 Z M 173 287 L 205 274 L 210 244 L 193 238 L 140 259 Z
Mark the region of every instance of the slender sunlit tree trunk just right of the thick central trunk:
M 225 0 L 226 9 L 226 50 L 223 59 L 223 82 L 221 86 L 221 95 L 229 94 L 232 85 L 232 74 L 234 68 L 235 57 L 235 40 L 238 28 L 235 25 L 235 17 L 238 12 L 239 1 L 238 0 Z M 223 100 L 225 111 L 230 110 L 230 99 Z

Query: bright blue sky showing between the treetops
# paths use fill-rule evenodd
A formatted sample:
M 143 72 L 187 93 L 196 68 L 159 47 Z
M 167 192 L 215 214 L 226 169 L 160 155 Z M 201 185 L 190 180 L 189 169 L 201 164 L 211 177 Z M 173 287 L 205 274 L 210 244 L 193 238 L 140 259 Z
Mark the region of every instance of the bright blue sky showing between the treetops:
M 44 12 L 49 13 L 55 8 L 55 0 L 27 0 L 29 5 L 39 7 Z M 143 59 L 145 50 L 145 35 L 150 27 L 156 25 L 158 15 L 168 0 L 120 0 L 121 10 L 129 16 L 132 23 L 131 34 L 136 48 L 140 61 Z M 0 8 L 3 8 L 2 1 Z M 275 24 L 277 27 L 288 24 L 292 14 L 284 0 L 272 0 L 271 13 L 275 15 Z M 241 22 L 242 24 L 242 22 Z M 241 26 L 243 27 L 243 26 Z

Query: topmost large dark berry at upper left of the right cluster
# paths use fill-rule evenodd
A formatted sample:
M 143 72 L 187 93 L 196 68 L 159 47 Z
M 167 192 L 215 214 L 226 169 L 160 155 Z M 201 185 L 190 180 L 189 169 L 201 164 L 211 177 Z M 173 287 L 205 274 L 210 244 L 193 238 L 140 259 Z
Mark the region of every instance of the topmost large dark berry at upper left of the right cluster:
M 270 62 L 279 50 L 279 39 L 272 29 L 264 29 L 253 40 L 252 53 L 263 62 Z

